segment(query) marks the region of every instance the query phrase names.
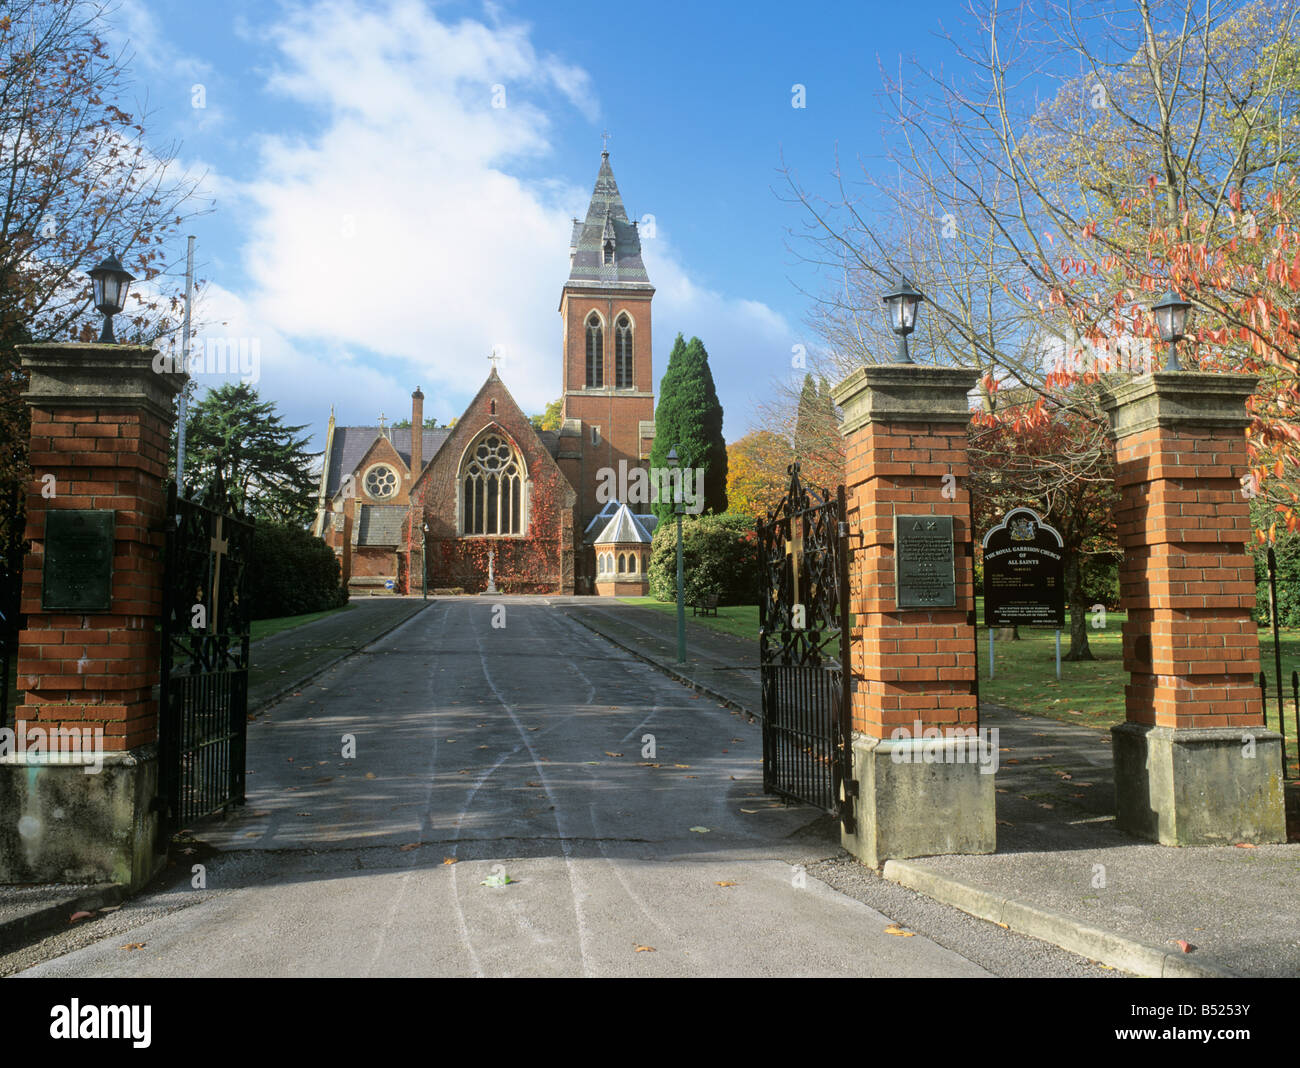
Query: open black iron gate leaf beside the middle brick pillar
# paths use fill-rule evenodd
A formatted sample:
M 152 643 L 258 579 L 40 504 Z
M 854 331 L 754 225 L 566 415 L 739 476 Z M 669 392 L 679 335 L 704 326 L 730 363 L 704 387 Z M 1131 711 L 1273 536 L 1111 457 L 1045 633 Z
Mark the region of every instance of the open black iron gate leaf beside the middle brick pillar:
M 849 531 L 844 486 L 805 487 L 758 522 L 763 595 L 763 789 L 836 816 L 853 832 L 849 741 Z

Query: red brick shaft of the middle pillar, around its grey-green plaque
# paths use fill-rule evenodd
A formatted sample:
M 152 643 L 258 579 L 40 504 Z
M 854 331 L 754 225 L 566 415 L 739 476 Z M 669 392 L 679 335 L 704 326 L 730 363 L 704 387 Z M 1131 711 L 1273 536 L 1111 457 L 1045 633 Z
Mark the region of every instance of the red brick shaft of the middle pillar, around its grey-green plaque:
M 853 729 L 888 738 L 897 726 L 974 726 L 975 633 L 966 427 L 871 422 L 848 442 Z M 957 494 L 944 498 L 945 474 Z M 957 607 L 894 607 L 894 515 L 953 517 Z

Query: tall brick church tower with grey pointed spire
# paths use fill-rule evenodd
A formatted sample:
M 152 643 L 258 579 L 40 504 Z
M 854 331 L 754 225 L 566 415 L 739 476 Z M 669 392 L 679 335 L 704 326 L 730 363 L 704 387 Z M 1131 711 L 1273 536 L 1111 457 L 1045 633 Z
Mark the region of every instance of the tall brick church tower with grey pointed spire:
M 641 262 L 641 235 L 601 153 L 586 218 L 573 220 L 569 277 L 560 294 L 564 322 L 560 469 L 578 494 L 581 538 L 601 511 L 601 470 L 618 478 L 645 466 L 654 439 L 650 300 L 654 286 Z M 627 483 L 621 483 L 627 485 Z M 634 511 L 647 511 L 644 502 Z

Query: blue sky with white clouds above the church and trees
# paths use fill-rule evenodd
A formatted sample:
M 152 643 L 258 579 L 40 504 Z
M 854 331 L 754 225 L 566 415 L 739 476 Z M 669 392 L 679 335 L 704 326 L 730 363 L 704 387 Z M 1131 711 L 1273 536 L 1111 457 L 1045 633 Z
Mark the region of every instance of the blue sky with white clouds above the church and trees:
M 568 220 L 608 130 L 629 214 L 655 220 L 655 381 L 676 333 L 699 335 L 734 440 L 792 346 L 816 343 L 800 287 L 823 283 L 788 249 L 803 216 L 774 191 L 783 155 L 823 191 L 836 151 L 880 168 L 880 65 L 936 69 L 935 31 L 963 17 L 949 3 L 122 0 L 116 26 L 153 139 L 179 142 L 214 204 L 187 225 L 203 331 L 257 340 L 257 387 L 290 422 L 318 435 L 330 404 L 343 424 L 399 418 L 416 385 L 446 421 L 493 347 L 526 411 L 558 396 Z

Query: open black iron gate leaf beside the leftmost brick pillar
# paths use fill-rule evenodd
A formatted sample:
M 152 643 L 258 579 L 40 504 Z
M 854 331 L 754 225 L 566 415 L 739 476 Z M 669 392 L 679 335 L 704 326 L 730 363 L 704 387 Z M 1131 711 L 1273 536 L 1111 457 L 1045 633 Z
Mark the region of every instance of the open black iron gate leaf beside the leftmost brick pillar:
M 244 799 L 252 522 L 220 482 L 200 499 L 168 491 L 159 702 L 159 802 L 168 830 Z

